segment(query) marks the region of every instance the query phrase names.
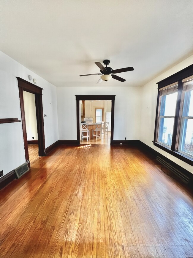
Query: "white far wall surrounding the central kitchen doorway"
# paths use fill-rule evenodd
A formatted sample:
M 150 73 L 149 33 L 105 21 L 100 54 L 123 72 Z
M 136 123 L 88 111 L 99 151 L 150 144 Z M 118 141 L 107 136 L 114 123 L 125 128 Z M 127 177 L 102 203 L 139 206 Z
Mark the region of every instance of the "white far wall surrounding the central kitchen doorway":
M 81 86 L 81 85 L 80 85 Z M 114 140 L 139 140 L 141 87 L 57 87 L 60 140 L 77 140 L 76 96 L 116 95 Z

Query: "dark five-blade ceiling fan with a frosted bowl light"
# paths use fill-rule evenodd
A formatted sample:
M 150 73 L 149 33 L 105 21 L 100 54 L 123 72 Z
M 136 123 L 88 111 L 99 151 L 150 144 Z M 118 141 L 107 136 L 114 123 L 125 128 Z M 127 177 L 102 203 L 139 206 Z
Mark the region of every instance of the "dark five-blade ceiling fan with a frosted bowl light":
M 100 68 L 100 72 L 101 72 L 101 78 L 98 80 L 97 83 L 100 83 L 103 81 L 107 82 L 109 81 L 111 78 L 113 79 L 116 79 L 120 82 L 125 82 L 126 80 L 115 75 L 115 74 L 118 74 L 118 73 L 123 73 L 123 72 L 129 72 L 129 71 L 133 71 L 133 67 L 126 67 L 126 68 L 121 68 L 121 69 L 116 69 L 116 70 L 113 70 L 111 67 L 107 66 L 109 65 L 110 63 L 110 60 L 104 60 L 103 61 L 104 65 L 106 65 L 106 67 L 104 67 L 102 65 L 102 63 L 100 62 L 95 62 L 95 64 Z M 98 75 L 98 74 L 83 74 L 83 75 L 80 75 L 80 76 L 88 76 L 88 75 Z

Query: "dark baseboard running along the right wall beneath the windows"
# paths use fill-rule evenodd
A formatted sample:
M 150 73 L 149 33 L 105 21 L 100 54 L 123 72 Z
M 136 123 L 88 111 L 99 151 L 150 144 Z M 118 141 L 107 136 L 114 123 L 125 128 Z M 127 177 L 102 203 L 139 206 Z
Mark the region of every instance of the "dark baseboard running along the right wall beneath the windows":
M 176 164 L 172 160 L 170 160 L 167 157 L 163 156 L 158 151 L 155 151 L 154 149 L 152 149 L 151 147 L 149 147 L 148 145 L 146 145 L 145 143 L 143 143 L 141 141 L 139 141 L 139 146 L 138 147 L 142 151 L 145 151 L 145 153 L 151 154 L 154 158 L 156 158 L 157 156 L 161 157 L 165 162 L 170 163 L 174 168 L 176 168 L 177 170 L 181 171 L 184 175 L 188 176 L 190 178 L 190 181 L 189 181 L 188 185 L 191 188 L 193 188 L 193 174 L 191 172 L 189 172 L 185 168 L 182 168 L 180 165 Z

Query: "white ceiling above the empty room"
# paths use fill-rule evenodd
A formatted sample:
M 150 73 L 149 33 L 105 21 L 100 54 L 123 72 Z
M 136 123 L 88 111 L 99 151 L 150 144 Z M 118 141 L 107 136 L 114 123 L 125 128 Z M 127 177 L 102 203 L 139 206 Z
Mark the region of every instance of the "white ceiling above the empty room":
M 193 53 L 192 0 L 1 0 L 0 49 L 56 86 L 140 86 Z M 94 84 L 93 84 L 94 83 Z M 102 82 L 103 85 L 105 82 Z M 97 86 L 97 85 L 96 85 Z

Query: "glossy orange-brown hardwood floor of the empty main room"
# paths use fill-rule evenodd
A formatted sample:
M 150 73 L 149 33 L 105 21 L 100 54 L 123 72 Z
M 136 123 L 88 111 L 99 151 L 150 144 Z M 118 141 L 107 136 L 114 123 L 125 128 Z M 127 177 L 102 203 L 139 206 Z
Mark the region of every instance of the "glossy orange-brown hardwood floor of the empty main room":
M 193 257 L 193 198 L 137 148 L 59 146 L 0 191 L 0 257 Z

